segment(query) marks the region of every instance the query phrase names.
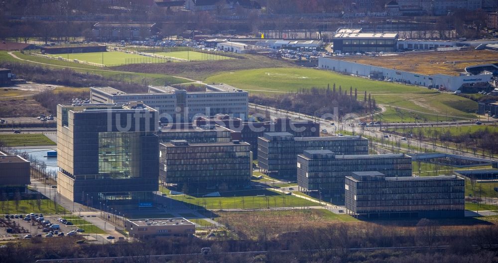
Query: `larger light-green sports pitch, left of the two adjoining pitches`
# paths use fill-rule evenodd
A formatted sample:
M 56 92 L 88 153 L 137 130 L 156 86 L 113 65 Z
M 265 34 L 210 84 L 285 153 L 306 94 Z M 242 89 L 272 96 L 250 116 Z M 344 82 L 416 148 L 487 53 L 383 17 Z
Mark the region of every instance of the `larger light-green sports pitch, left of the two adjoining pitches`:
M 77 59 L 80 61 L 87 61 L 97 64 L 104 64 L 106 66 L 119 66 L 123 64 L 137 64 L 137 63 L 162 63 L 163 59 L 156 59 L 136 54 L 128 54 L 124 52 L 91 52 L 91 53 L 70 53 L 56 54 L 54 57 L 63 57 L 69 59 Z

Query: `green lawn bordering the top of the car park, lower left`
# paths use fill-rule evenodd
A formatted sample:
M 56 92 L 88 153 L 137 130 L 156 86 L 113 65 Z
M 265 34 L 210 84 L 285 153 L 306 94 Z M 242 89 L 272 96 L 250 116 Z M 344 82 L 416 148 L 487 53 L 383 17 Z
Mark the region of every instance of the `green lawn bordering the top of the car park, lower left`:
M 15 201 L 0 201 L 0 211 L 2 214 L 56 213 L 55 204 L 50 199 L 42 199 L 40 208 L 36 205 L 36 200 L 20 200 L 17 209 L 15 208 Z M 69 213 L 60 205 L 57 205 L 57 212 L 59 214 Z

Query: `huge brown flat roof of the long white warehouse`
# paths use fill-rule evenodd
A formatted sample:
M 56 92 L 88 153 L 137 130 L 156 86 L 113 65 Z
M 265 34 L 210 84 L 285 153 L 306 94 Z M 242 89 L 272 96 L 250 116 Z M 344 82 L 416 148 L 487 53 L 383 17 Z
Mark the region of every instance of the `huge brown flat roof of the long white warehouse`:
M 466 67 L 497 63 L 498 52 L 492 50 L 428 51 L 376 57 L 334 56 L 329 58 L 424 75 L 460 76 L 461 72 L 465 72 Z

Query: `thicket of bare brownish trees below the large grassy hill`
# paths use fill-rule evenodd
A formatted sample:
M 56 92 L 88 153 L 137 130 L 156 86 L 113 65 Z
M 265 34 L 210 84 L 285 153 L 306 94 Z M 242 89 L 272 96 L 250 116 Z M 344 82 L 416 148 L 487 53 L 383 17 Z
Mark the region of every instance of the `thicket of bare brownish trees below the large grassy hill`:
M 285 109 L 311 116 L 336 114 L 338 117 L 348 113 L 372 113 L 376 109 L 375 100 L 367 91 L 362 98 L 358 98 L 358 89 L 349 88 L 349 92 L 339 86 L 332 85 L 323 88 L 301 89 L 295 93 L 286 93 L 278 96 L 266 97 L 252 95 L 251 103 Z

